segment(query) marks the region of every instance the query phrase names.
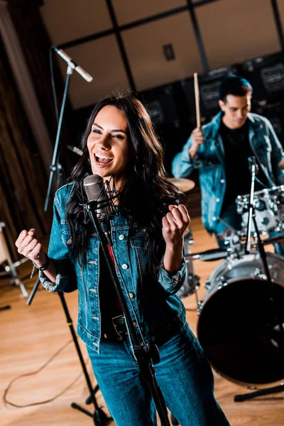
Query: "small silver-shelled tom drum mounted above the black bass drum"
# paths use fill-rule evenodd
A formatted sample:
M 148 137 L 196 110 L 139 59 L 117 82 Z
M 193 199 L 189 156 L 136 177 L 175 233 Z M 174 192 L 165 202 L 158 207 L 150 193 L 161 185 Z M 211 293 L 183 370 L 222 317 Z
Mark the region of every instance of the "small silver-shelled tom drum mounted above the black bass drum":
M 254 192 L 256 223 L 261 234 L 284 229 L 284 185 Z M 241 214 L 242 231 L 246 234 L 249 218 L 249 194 L 236 198 L 236 209 Z M 251 231 L 255 229 L 251 224 Z

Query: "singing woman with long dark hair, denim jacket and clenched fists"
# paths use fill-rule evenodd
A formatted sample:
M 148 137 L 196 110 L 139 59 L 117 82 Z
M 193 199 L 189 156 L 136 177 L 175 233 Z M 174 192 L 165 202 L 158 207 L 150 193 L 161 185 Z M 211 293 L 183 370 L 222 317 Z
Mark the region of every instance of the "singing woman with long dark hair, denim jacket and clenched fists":
M 229 425 L 214 398 L 211 368 L 175 295 L 186 275 L 182 248 L 190 218 L 166 178 L 163 148 L 143 104 L 131 94 L 99 102 L 82 151 L 72 182 L 55 193 L 48 255 L 35 229 L 18 236 L 18 252 L 35 263 L 47 290 L 78 290 L 77 332 L 116 425 L 157 425 L 96 229 L 82 207 L 88 175 L 114 185 L 119 197 L 108 249 L 134 327 L 160 351 L 155 378 L 165 403 L 182 426 Z

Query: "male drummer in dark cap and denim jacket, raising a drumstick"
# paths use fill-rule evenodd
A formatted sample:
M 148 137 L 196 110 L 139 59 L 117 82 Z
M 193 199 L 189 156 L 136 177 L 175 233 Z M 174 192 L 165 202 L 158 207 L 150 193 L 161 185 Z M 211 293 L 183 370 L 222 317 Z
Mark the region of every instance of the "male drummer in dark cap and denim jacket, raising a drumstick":
M 255 156 L 258 163 L 255 190 L 284 183 L 284 171 L 278 167 L 283 148 L 270 121 L 250 112 L 252 94 L 251 84 L 243 77 L 224 78 L 219 88 L 221 111 L 194 129 L 173 159 L 175 178 L 186 178 L 199 168 L 202 222 L 218 241 L 230 227 L 241 230 L 235 199 L 250 192 L 249 157 Z

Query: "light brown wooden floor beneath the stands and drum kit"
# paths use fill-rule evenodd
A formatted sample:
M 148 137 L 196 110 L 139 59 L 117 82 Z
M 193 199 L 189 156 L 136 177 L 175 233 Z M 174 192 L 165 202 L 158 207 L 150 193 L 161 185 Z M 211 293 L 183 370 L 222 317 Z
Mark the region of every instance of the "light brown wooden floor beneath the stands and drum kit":
M 204 231 L 200 219 L 192 219 L 192 231 L 195 244 L 192 251 L 204 251 L 216 247 L 213 237 Z M 200 275 L 202 287 L 200 299 L 204 297 L 203 285 L 210 273 L 216 268 L 217 262 L 194 261 L 195 273 Z M 18 273 L 25 277 L 31 272 L 31 263 L 26 262 L 18 268 Z M 35 278 L 24 280 L 28 293 L 35 283 Z M 77 293 L 65 296 L 67 306 L 74 323 L 77 313 Z M 195 296 L 183 299 L 187 307 L 187 320 L 194 332 L 197 326 Z M 1 426 L 41 426 L 60 425 L 78 426 L 93 425 L 93 420 L 78 410 L 71 408 L 75 402 L 88 409 L 85 400 L 88 389 L 81 371 L 80 362 L 67 327 L 65 313 L 60 297 L 39 287 L 31 306 L 19 288 L 13 288 L 7 280 L 0 280 L 0 306 L 11 305 L 10 310 L 0 311 L 1 353 L 0 353 L 0 424 Z M 67 344 L 70 342 L 69 344 Z M 40 401 L 50 400 L 76 380 L 75 384 L 63 395 L 49 403 L 16 408 L 6 405 L 3 400 L 4 391 L 11 381 L 21 375 L 29 375 L 42 367 L 62 346 L 67 346 L 58 356 L 50 361 L 42 371 L 32 376 L 19 378 L 13 383 L 6 398 L 15 405 L 31 405 Z M 87 369 L 95 384 L 94 376 L 87 361 L 84 344 L 80 342 Z M 284 360 L 283 360 L 284 362 Z M 249 392 L 244 386 L 237 386 L 221 376 L 214 375 L 216 397 L 222 406 L 231 426 L 280 426 L 284 425 L 284 393 L 256 398 L 244 403 L 234 403 L 234 395 Z M 275 385 L 273 383 L 273 385 Z M 262 386 L 263 387 L 263 386 Z M 265 386 L 264 386 L 265 387 Z M 104 405 L 102 395 L 96 394 L 99 405 Z M 123 403 L 123 401 L 122 401 Z M 114 422 L 109 423 L 114 425 Z M 126 425 L 135 426 L 135 425 Z

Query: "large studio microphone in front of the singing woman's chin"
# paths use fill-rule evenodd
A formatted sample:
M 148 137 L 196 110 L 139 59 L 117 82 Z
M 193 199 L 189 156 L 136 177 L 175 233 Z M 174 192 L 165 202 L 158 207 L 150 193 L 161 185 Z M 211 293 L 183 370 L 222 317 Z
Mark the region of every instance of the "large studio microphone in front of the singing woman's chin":
M 84 178 L 84 190 L 89 202 L 94 202 L 94 211 L 97 214 L 99 222 L 101 222 L 105 236 L 110 240 L 111 225 L 109 216 L 112 213 L 112 208 L 111 200 L 104 187 L 104 180 L 99 175 L 87 176 L 87 178 Z M 109 241 L 109 243 L 111 244 L 111 241 Z

